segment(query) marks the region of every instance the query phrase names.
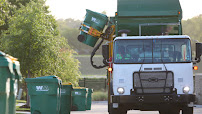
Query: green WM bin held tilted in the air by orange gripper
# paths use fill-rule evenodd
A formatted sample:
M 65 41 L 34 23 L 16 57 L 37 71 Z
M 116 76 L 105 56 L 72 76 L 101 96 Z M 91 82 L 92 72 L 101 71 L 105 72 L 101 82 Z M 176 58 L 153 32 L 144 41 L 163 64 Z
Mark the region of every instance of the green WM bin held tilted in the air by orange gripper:
M 87 25 L 102 32 L 107 22 L 108 17 L 106 15 L 86 9 L 86 17 L 83 23 L 84 25 Z M 88 31 L 88 28 L 85 26 L 82 26 L 81 29 Z M 94 47 L 98 38 L 81 31 L 80 35 L 78 36 L 78 40 L 86 45 Z

